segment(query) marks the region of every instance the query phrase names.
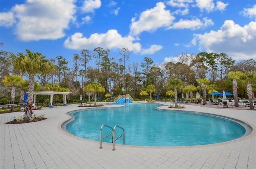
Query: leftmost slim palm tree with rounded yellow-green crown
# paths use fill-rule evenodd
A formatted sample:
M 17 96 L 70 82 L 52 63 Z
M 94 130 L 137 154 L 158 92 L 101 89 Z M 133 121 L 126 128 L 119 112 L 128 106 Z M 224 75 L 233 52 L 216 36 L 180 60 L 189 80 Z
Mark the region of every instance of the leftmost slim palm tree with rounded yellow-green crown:
M 18 87 L 18 85 L 20 84 L 20 82 L 22 81 L 22 77 L 21 76 L 4 76 L 2 83 L 4 85 L 11 85 L 12 86 L 12 92 L 11 92 L 11 98 L 12 98 L 12 106 L 11 106 L 11 112 L 14 111 L 14 99 L 15 99 L 15 91 L 16 91 L 16 87 Z

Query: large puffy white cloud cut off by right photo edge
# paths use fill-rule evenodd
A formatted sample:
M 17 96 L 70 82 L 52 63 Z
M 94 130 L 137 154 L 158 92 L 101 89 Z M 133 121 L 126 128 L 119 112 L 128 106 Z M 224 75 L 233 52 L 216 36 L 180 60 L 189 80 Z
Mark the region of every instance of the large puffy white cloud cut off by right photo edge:
M 226 20 L 220 30 L 194 34 L 192 44 L 199 42 L 199 49 L 206 52 L 226 53 L 234 60 L 256 58 L 256 22 L 244 27 Z

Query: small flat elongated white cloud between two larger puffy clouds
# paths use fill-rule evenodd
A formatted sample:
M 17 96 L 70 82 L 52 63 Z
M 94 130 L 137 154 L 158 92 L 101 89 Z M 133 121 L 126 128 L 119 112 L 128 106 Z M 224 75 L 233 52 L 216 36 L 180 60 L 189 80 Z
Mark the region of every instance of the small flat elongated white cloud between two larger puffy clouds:
M 174 23 L 172 26 L 168 27 L 168 29 L 191 29 L 197 30 L 200 28 L 205 28 L 207 26 L 212 26 L 214 23 L 212 20 L 203 18 L 203 22 L 198 18 L 194 20 L 183 20 L 180 19 L 179 22 Z

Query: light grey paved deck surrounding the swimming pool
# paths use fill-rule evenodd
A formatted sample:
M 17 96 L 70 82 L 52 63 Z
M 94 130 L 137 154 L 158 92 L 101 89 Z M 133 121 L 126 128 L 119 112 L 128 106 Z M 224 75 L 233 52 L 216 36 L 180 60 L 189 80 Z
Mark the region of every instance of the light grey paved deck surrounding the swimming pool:
M 166 103 L 170 105 L 170 103 Z M 23 115 L 21 112 L 0 114 L 1 169 L 255 169 L 256 111 L 184 105 L 185 111 L 213 113 L 239 119 L 253 127 L 250 135 L 213 145 L 190 147 L 135 147 L 102 143 L 74 137 L 60 125 L 69 119 L 68 111 L 84 109 L 79 105 L 45 107 L 36 111 L 46 120 L 5 124 Z M 104 105 L 113 107 L 118 105 Z M 163 109 L 170 109 L 167 106 Z M 122 126 L 121 126 L 122 127 Z M 99 129 L 100 130 L 100 129 Z

